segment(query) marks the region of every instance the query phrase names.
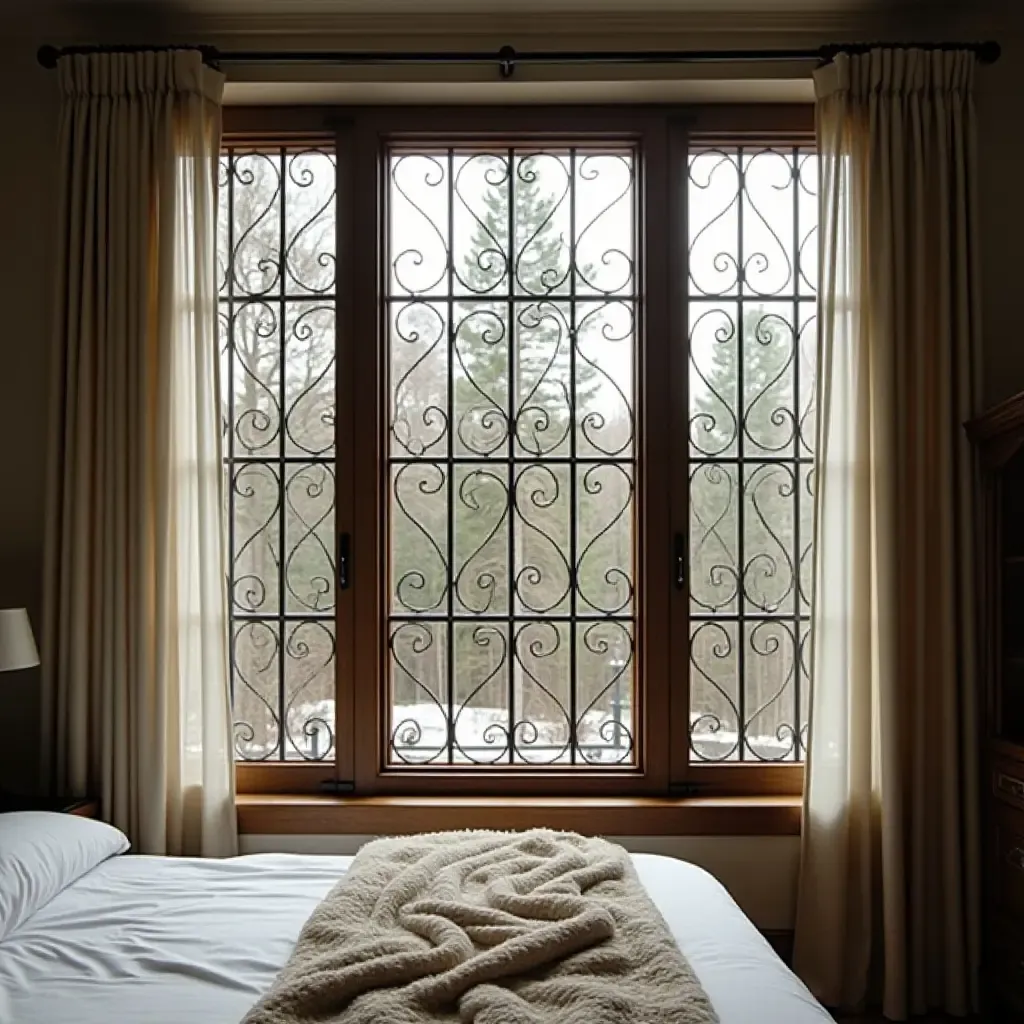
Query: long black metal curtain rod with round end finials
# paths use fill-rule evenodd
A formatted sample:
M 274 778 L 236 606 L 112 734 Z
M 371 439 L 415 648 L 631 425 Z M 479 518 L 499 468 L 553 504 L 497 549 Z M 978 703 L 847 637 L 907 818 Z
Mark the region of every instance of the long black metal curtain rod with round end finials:
M 214 66 L 224 63 L 271 65 L 496 65 L 502 78 L 511 78 L 517 65 L 644 65 L 719 63 L 726 61 L 818 60 L 828 63 L 839 53 L 866 53 L 879 46 L 900 49 L 969 50 L 980 63 L 999 58 L 996 42 L 984 43 L 831 43 L 810 50 L 540 50 L 520 53 L 511 46 L 497 52 L 403 52 L 357 50 L 220 50 L 215 46 L 198 49 L 203 59 Z M 56 68 L 57 60 L 73 53 L 131 53 L 138 50 L 168 50 L 172 46 L 41 46 L 39 62 Z

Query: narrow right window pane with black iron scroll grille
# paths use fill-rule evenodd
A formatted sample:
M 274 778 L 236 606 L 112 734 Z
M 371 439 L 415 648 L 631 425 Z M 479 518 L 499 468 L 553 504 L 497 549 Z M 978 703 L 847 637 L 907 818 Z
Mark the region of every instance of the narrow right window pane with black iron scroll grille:
M 689 157 L 694 761 L 806 750 L 816 188 L 811 150 Z

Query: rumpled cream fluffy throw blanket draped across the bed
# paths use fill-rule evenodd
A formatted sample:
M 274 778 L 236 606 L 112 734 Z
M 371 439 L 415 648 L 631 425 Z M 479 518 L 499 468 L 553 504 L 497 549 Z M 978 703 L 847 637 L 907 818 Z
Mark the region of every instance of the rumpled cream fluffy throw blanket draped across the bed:
M 243 1024 L 714 1024 L 629 854 L 543 829 L 370 843 Z

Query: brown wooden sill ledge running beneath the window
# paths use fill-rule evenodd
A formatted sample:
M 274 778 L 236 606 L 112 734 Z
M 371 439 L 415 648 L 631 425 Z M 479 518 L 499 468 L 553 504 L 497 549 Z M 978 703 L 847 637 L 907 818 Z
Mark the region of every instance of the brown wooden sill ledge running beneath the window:
M 799 836 L 802 800 L 772 797 L 326 797 L 240 794 L 243 835 L 563 828 L 601 836 Z

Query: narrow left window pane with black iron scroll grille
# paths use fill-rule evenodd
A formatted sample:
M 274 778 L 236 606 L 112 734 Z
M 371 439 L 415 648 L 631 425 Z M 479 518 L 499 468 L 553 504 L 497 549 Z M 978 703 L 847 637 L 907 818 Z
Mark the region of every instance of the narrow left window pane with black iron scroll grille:
M 336 170 L 222 151 L 218 298 L 236 758 L 327 761 L 335 721 Z

